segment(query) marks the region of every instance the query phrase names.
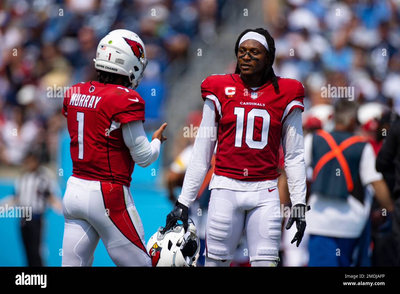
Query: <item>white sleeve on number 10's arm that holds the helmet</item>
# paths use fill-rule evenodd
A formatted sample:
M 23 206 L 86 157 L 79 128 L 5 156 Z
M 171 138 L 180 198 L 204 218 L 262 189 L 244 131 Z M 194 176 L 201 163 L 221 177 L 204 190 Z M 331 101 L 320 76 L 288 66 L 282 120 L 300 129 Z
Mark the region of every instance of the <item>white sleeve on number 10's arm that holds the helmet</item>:
M 194 141 L 188 169 L 186 170 L 183 181 L 182 192 L 178 198 L 180 203 L 188 207 L 192 205 L 193 201 L 196 199 L 200 186 L 206 176 L 208 168 L 210 167 L 212 153 L 214 152 L 215 144 L 217 142 L 216 140 L 212 140 L 210 137 L 202 137 L 199 135 L 216 134 L 212 128 L 215 128 L 214 130 L 217 128 L 217 123 L 215 122 L 214 102 L 210 99 L 206 99 L 203 108 L 203 118 L 197 132 L 196 140 Z

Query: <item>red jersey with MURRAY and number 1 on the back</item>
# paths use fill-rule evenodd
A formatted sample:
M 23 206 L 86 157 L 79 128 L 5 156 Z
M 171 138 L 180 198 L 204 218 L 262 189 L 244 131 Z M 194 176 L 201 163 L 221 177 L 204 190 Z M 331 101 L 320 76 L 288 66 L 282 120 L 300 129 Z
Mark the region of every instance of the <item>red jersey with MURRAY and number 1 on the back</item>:
M 130 186 L 134 161 L 120 126 L 144 121 L 144 100 L 124 86 L 90 81 L 64 93 L 73 176 Z

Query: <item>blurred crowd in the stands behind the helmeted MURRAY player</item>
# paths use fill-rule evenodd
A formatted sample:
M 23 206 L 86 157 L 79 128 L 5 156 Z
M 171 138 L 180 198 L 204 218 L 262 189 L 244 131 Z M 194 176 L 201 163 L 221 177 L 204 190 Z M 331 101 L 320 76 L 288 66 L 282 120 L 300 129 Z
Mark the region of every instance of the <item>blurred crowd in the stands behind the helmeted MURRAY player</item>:
M 223 2 L 2 1 L 0 162 L 21 165 L 32 146 L 39 146 L 42 161 L 55 160 L 57 133 L 66 123 L 60 117 L 64 87 L 96 80 L 98 41 L 117 28 L 129 28 L 146 44 L 150 62 L 139 92 L 146 100 L 148 89 L 157 90 L 154 103 L 146 104 L 146 118 L 157 119 L 165 99 L 165 69 L 172 60 L 185 60 L 194 36 L 205 42 L 215 38 Z

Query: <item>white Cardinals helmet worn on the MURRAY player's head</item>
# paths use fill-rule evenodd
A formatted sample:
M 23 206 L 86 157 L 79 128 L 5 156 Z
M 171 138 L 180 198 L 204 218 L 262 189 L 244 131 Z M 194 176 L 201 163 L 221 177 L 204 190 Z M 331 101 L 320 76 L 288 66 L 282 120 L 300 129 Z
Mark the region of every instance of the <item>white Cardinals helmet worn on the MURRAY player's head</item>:
M 137 34 L 128 30 L 114 30 L 100 40 L 94 67 L 128 76 L 135 89 L 142 80 L 147 62 L 144 44 Z

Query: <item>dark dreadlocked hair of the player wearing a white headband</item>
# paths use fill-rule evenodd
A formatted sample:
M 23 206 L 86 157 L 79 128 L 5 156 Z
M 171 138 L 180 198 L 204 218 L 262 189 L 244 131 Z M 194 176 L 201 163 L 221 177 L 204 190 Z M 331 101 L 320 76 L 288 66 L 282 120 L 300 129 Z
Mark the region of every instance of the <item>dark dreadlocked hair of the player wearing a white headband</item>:
M 267 40 L 269 52 L 267 50 L 267 63 L 266 63 L 263 75 L 264 75 L 265 82 L 268 80 L 271 80 L 272 85 L 274 86 L 274 89 L 276 91 L 279 90 L 278 79 L 276 78 L 274 69 L 272 68 L 272 64 L 274 64 L 274 60 L 275 60 L 275 42 L 274 42 L 274 38 L 271 37 L 270 33 L 267 30 L 264 30 L 263 28 L 256 28 L 255 30 L 252 30 L 252 29 L 244 30 L 242 32 L 242 34 L 240 34 L 238 40 L 236 41 L 235 55 L 238 56 L 240 39 L 248 32 L 256 32 L 258 34 L 261 34 Z M 240 74 L 240 69 L 239 69 L 238 63 L 236 64 L 235 74 Z

